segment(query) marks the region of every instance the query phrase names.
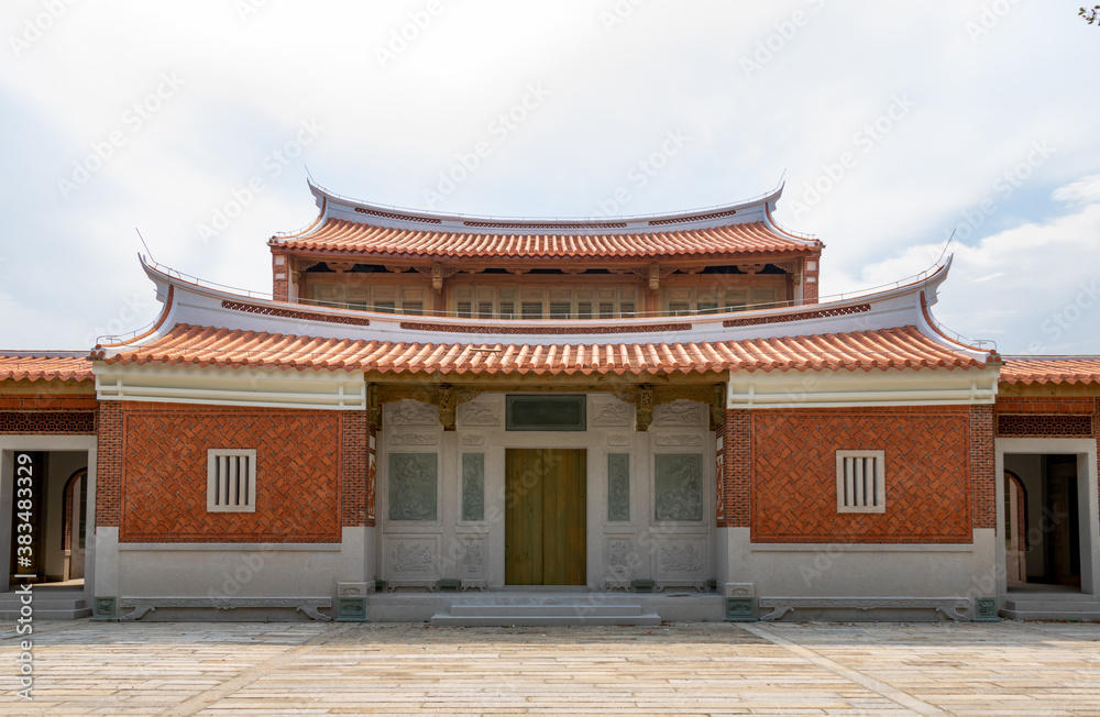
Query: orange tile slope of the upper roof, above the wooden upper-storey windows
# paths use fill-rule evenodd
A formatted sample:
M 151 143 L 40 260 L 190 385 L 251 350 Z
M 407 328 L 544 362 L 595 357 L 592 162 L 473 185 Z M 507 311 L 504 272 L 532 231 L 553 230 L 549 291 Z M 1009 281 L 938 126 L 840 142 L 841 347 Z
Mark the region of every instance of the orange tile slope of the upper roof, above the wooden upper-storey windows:
M 297 251 L 449 260 L 656 258 L 700 254 L 815 252 L 811 244 L 780 236 L 763 222 L 671 232 L 479 234 L 391 229 L 330 219 L 316 233 L 273 240 L 273 244 Z

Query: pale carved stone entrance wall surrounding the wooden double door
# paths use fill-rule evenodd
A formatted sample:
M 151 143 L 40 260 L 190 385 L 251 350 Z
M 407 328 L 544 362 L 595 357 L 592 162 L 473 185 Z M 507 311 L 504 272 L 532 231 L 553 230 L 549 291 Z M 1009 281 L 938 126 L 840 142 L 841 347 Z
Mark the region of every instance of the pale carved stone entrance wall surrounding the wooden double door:
M 505 394 L 486 393 L 458 408 L 457 430 L 444 432 L 436 422 L 421 426 L 394 422 L 397 404 L 384 407 L 383 430 L 378 432 L 377 575 L 386 581 L 435 581 L 440 577 L 484 580 L 488 587 L 505 585 L 505 456 L 508 449 L 576 449 L 587 454 L 587 586 L 602 589 L 607 580 L 619 578 L 622 569 L 612 570 L 613 542 L 625 542 L 628 578 L 661 580 L 662 551 L 684 550 L 686 544 L 702 550 L 694 581 L 715 577 L 714 433 L 710 431 L 706 407 L 698 407 L 698 421 L 683 424 L 675 416 L 662 419 L 657 407 L 649 432 L 635 430 L 635 409 L 610 394 L 587 395 L 587 431 L 537 432 L 505 430 Z M 485 410 L 483 410 L 485 409 Z M 608 410 L 610 409 L 610 410 Z M 409 445 L 408 437 L 419 445 Z M 431 441 L 435 441 L 431 443 Z M 436 521 L 389 520 L 388 468 L 392 453 L 438 454 L 439 516 Z M 463 522 L 461 472 L 463 453 L 485 455 L 485 520 Z M 630 521 L 607 520 L 607 455 L 630 454 Z M 703 519 L 696 523 L 657 525 L 653 518 L 653 455 L 698 453 L 703 466 Z M 468 541 L 482 541 L 483 566 L 472 574 L 462 564 Z M 398 544 L 415 544 L 433 552 L 433 565 L 425 572 L 402 574 L 393 570 L 393 551 Z M 619 545 L 622 548 L 622 545 Z M 623 551 L 618 554 L 622 556 Z M 664 575 L 683 578 L 683 574 Z

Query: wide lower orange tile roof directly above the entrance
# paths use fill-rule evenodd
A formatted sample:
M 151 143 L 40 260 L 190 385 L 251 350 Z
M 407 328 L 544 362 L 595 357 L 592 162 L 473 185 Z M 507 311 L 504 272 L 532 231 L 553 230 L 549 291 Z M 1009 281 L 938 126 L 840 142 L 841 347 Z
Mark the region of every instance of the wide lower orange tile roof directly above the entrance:
M 915 327 L 746 341 L 486 346 L 316 339 L 179 324 L 153 343 L 107 362 L 460 375 L 985 366 L 980 361 L 935 343 Z

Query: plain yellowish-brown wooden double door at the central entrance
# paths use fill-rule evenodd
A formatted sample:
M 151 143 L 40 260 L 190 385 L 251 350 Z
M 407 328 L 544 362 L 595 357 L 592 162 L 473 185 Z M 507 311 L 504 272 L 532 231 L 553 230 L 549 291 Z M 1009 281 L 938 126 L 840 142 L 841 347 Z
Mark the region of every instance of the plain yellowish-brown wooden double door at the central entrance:
M 508 449 L 505 472 L 505 583 L 584 585 L 587 453 Z

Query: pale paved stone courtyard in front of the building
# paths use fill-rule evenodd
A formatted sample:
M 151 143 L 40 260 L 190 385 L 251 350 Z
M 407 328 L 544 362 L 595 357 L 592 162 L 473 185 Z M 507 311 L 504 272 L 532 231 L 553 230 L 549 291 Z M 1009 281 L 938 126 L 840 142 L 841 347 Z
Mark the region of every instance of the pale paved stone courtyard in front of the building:
M 2 715 L 1098 715 L 1100 625 L 41 622 Z

